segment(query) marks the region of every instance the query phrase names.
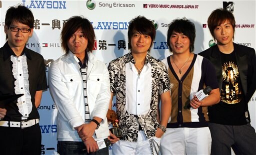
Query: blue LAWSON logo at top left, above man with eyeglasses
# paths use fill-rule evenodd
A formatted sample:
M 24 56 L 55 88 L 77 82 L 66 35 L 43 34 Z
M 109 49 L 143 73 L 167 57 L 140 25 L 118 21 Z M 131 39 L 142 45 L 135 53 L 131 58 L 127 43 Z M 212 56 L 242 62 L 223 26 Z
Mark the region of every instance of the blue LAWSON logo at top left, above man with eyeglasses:
M 22 0 L 22 2 L 27 8 L 66 8 L 66 1 L 63 0 Z

